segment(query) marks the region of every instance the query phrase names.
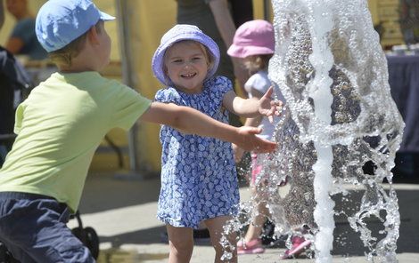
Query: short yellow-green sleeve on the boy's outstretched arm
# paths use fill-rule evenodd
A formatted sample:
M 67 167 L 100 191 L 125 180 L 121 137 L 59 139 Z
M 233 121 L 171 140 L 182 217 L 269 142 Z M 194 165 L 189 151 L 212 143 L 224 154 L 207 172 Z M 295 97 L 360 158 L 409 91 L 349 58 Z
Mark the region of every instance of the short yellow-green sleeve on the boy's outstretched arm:
M 111 117 L 111 127 L 119 127 L 124 130 L 129 130 L 136 120 L 144 114 L 150 107 L 151 100 L 144 98 L 140 93 L 119 84 L 115 89 L 117 92 L 113 103 L 113 113 Z

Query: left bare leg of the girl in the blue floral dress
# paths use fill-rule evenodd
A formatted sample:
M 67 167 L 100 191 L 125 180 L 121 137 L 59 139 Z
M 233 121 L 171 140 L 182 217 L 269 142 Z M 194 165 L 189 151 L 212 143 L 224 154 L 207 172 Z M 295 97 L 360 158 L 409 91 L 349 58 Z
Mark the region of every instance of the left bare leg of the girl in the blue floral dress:
M 168 263 L 187 263 L 191 260 L 193 252 L 193 228 L 173 227 L 168 229 L 168 246 L 170 253 Z

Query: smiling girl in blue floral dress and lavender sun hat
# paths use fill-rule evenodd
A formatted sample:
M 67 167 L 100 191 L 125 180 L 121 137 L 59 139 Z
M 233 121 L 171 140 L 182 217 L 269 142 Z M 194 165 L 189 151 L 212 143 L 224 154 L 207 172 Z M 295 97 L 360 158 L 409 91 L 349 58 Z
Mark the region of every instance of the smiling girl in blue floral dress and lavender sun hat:
M 167 88 L 155 100 L 189 106 L 228 123 L 228 111 L 238 116 L 278 115 L 280 102 L 270 100 L 272 89 L 257 99 L 244 100 L 218 68 L 217 44 L 191 25 L 177 25 L 162 38 L 152 58 L 154 75 Z M 157 217 L 167 224 L 169 262 L 189 262 L 193 252 L 193 228 L 201 221 L 209 229 L 222 262 L 223 226 L 237 212 L 239 191 L 230 143 L 185 134 L 167 125 L 160 131 L 162 145 L 161 189 Z M 235 242 L 235 236 L 228 236 Z M 230 251 L 236 262 L 235 251 Z

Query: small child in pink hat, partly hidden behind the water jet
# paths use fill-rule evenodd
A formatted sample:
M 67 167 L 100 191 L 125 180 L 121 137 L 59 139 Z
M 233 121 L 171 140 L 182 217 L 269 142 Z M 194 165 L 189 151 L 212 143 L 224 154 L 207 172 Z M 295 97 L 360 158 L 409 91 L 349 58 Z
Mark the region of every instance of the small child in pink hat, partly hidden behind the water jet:
M 248 92 L 249 98 L 262 98 L 271 86 L 267 77 L 267 65 L 274 52 L 274 28 L 266 20 L 251 20 L 237 28 L 233 44 L 229 47 L 227 53 L 234 58 L 242 59 L 245 68 L 251 74 L 249 80 L 244 84 L 244 89 Z M 269 140 L 272 139 L 275 130 L 275 124 L 271 124 L 267 117 L 263 116 L 248 118 L 244 125 L 262 127 L 259 137 Z M 234 146 L 234 155 L 237 162 L 242 159 L 242 154 L 243 150 Z M 266 157 L 267 155 L 263 154 L 252 153 L 251 155 L 251 192 L 258 211 L 252 219 L 244 239 L 237 244 L 238 254 L 263 253 L 265 251 L 260 235 L 268 215 L 267 196 L 262 195 L 263 190 L 260 187 L 266 185 L 264 179 L 261 179 L 264 168 L 263 161 Z

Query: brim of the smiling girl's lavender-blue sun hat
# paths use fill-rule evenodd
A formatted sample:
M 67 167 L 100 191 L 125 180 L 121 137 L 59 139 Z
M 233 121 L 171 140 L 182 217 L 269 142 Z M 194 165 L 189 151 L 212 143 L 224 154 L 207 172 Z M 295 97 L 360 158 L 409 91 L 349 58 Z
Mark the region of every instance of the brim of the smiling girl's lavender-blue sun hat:
M 182 34 L 181 36 L 175 36 L 168 40 L 168 42 L 164 44 L 160 44 L 160 46 L 157 48 L 156 52 L 154 52 L 154 56 L 152 57 L 152 71 L 154 73 L 154 76 L 156 76 L 162 84 L 170 84 L 168 82 L 168 79 L 165 77 L 163 65 L 164 65 L 164 54 L 167 51 L 168 47 L 170 47 L 172 44 L 175 44 L 179 41 L 183 40 L 191 40 L 196 41 L 204 46 L 206 46 L 210 52 L 210 55 L 212 56 L 214 60 L 213 67 L 209 70 L 206 78 L 209 78 L 210 76 L 213 76 L 217 69 L 219 64 L 219 49 L 218 45 L 210 38 L 209 36 L 206 36 L 205 34 L 201 33 L 198 34 L 196 32 L 193 32 L 193 34 Z

